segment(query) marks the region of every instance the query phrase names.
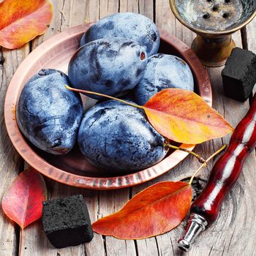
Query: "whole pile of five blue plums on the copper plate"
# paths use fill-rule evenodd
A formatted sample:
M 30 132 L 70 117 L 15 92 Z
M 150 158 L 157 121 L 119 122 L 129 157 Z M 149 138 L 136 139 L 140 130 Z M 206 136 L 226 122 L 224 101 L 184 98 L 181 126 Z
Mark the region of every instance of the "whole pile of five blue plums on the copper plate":
M 17 122 L 23 135 L 50 154 L 78 146 L 97 167 L 110 171 L 142 170 L 157 164 L 167 150 L 145 113 L 115 100 L 84 113 L 80 94 L 87 91 L 125 97 L 138 105 L 162 89 L 194 90 L 192 72 L 177 56 L 157 53 L 157 26 L 143 15 L 123 12 L 94 23 L 83 34 L 69 61 L 68 76 L 42 69 L 21 91 Z

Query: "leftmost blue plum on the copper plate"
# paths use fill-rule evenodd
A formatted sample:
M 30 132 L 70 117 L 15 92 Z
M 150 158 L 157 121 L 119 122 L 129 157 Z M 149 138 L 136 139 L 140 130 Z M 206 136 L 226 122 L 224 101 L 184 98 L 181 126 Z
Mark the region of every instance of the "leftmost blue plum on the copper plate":
M 50 154 L 66 154 L 73 148 L 83 118 L 80 95 L 64 84 L 69 81 L 63 72 L 42 69 L 23 87 L 16 108 L 20 131 Z

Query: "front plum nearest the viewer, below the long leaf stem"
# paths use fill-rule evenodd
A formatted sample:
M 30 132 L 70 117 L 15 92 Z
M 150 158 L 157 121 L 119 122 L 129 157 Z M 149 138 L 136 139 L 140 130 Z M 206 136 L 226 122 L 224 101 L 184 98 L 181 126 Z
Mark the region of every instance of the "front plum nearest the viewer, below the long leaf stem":
M 167 153 L 164 143 L 143 110 L 115 100 L 90 108 L 78 132 L 83 155 L 102 170 L 113 172 L 157 164 Z

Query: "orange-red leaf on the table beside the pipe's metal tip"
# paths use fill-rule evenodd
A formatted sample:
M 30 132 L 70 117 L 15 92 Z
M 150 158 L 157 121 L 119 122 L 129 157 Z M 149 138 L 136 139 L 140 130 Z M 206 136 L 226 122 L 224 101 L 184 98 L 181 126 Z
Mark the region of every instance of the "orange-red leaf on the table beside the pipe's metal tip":
M 182 181 L 154 184 L 132 197 L 115 214 L 97 220 L 94 232 L 120 239 L 157 236 L 177 227 L 192 200 L 192 188 Z

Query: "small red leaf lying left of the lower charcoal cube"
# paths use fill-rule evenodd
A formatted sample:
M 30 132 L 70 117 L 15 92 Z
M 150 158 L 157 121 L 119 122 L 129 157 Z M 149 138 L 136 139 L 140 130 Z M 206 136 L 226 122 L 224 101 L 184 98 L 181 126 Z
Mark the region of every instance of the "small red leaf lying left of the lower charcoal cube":
M 21 228 L 42 217 L 42 201 L 47 199 L 47 190 L 42 175 L 29 167 L 15 178 L 4 193 L 1 208 Z

